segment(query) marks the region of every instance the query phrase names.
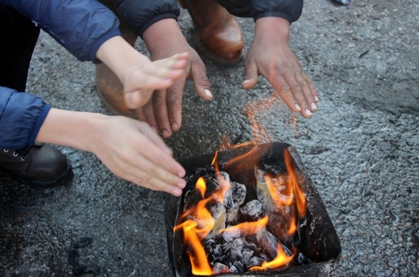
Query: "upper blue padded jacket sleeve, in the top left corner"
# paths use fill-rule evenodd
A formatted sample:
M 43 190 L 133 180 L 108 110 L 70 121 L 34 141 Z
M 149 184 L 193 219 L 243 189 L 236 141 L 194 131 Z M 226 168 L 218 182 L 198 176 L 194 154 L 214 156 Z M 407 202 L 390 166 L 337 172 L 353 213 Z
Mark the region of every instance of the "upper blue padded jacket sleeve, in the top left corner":
M 97 0 L 0 0 L 51 35 L 80 61 L 96 61 L 106 40 L 120 35 L 119 20 Z

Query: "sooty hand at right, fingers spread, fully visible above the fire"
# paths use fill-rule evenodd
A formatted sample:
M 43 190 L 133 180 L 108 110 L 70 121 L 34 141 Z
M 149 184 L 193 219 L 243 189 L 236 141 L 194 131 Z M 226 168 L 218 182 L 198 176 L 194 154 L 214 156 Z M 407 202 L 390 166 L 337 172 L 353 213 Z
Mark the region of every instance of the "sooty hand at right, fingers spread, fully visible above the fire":
M 318 95 L 289 44 L 289 22 L 279 17 L 256 21 L 255 37 L 247 51 L 243 88 L 256 85 L 258 75 L 266 78 L 285 104 L 305 118 L 317 111 Z

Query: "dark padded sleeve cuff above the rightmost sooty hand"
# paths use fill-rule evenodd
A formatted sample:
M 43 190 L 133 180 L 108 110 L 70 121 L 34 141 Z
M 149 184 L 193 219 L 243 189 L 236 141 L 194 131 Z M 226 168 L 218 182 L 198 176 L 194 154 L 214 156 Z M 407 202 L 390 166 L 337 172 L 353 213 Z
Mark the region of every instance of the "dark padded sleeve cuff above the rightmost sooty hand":
M 217 0 L 231 14 L 253 17 L 278 16 L 290 23 L 297 21 L 303 10 L 303 0 Z

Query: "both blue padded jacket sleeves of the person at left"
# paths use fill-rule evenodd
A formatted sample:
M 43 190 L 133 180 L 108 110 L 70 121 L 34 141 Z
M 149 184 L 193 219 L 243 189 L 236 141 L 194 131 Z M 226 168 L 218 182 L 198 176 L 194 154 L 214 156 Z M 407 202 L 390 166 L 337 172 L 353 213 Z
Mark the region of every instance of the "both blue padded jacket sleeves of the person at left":
M 97 0 L 0 0 L 0 3 L 30 18 L 80 61 L 95 61 L 102 43 L 120 35 L 118 18 Z M 33 94 L 0 86 L 0 147 L 21 149 L 33 145 L 50 109 Z

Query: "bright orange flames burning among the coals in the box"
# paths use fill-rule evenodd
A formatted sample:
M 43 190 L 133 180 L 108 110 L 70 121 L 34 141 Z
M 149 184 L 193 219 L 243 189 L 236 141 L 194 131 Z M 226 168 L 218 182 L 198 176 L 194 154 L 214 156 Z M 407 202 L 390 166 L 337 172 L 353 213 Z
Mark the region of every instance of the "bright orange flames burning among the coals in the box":
M 260 150 L 260 149 L 259 149 Z M 261 153 L 257 153 L 257 149 L 253 148 L 248 153 L 242 156 L 233 158 L 226 162 L 225 167 L 234 164 L 234 166 L 243 163 L 246 158 L 260 158 Z M 195 184 L 195 190 L 201 195 L 195 205 L 184 211 L 181 216 L 182 222 L 175 226 L 174 232 L 178 230 L 183 231 L 183 242 L 187 248 L 186 252 L 189 255 L 189 260 L 192 267 L 192 274 L 200 276 L 210 276 L 214 274 L 208 260 L 207 253 L 203 246 L 204 238 L 210 234 L 215 226 L 215 220 L 210 213 L 208 205 L 219 202 L 223 203 L 226 193 L 230 189 L 230 184 L 226 181 L 223 174 L 219 170 L 217 162 L 218 152 L 212 160 L 211 165 L 215 168 L 215 177 L 217 179 L 218 189 L 205 198 L 207 192 L 207 184 L 203 177 L 198 178 Z M 266 186 L 272 201 L 277 207 L 296 207 L 289 210 L 289 222 L 284 227 L 283 233 L 292 237 L 298 230 L 298 219 L 304 218 L 306 215 L 306 198 L 303 190 L 298 182 L 298 175 L 294 168 L 294 161 L 287 149 L 284 150 L 284 160 L 286 173 L 280 175 L 273 175 L 272 173 L 265 174 Z M 232 167 L 234 167 L 232 166 Z M 207 194 L 208 195 L 208 194 Z M 240 237 L 247 237 L 255 235 L 263 228 L 268 228 L 269 216 L 265 215 L 261 219 L 253 222 L 242 222 L 235 226 L 220 229 L 217 234 L 232 232 L 239 234 Z M 288 256 L 281 247 L 281 243 L 277 244 L 277 256 L 271 261 L 264 261 L 260 266 L 251 267 L 250 271 L 264 271 L 277 269 L 289 265 L 297 250 L 294 248 L 293 254 Z

